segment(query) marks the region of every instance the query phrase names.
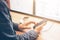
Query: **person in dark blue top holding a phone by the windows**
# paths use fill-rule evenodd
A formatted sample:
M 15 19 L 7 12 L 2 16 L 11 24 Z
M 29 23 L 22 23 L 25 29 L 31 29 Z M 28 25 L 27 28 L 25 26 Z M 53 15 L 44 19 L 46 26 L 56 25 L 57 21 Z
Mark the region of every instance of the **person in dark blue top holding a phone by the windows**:
M 25 34 L 16 35 L 15 30 L 19 30 L 21 25 L 12 22 L 5 0 L 0 0 L 0 40 L 35 40 L 44 25 L 45 23 Z

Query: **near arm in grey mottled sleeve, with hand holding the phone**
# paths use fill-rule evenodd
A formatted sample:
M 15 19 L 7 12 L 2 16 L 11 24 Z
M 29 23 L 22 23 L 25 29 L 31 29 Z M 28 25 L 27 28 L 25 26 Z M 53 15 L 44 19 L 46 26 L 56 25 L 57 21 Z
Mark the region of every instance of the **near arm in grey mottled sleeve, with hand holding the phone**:
M 44 21 L 41 25 L 37 26 L 35 29 L 22 34 L 22 35 L 17 35 L 18 39 L 22 38 L 22 40 L 36 40 L 38 37 L 38 34 L 42 30 L 43 26 L 46 24 L 47 21 Z

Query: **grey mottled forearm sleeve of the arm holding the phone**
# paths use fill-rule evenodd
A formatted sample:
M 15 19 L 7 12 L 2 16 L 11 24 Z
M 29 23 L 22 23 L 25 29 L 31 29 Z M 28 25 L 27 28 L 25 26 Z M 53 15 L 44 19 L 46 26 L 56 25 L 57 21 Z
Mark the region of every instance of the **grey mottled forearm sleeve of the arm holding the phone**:
M 31 30 L 25 34 L 18 35 L 18 39 L 20 40 L 35 40 L 38 37 L 38 33 L 34 30 Z

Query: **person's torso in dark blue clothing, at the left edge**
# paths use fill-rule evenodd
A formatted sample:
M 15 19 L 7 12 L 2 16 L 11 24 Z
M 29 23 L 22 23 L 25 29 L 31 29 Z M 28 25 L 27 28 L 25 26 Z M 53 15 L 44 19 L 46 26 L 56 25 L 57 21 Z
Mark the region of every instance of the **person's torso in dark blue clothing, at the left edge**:
M 10 12 L 4 0 L 0 0 L 0 7 L 0 40 L 16 40 Z

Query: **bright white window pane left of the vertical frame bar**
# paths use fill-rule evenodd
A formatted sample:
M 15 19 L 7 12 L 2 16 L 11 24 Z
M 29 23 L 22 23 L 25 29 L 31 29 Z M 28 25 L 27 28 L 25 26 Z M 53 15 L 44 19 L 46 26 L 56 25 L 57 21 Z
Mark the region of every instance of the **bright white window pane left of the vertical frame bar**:
M 33 14 L 33 0 L 10 0 L 11 10 Z

